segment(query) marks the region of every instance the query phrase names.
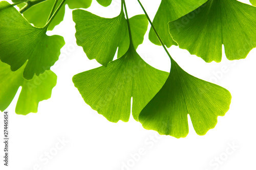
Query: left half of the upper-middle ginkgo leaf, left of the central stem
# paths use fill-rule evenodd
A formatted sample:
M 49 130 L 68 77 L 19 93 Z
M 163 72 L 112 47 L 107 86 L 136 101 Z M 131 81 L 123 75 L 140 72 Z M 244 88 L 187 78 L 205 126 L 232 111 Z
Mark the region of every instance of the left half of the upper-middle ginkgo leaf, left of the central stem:
M 127 23 L 123 12 L 115 18 L 102 18 L 84 10 L 74 10 L 76 42 L 87 57 L 106 66 L 113 60 L 117 47 L 125 35 Z M 128 42 L 129 43 L 129 42 Z

